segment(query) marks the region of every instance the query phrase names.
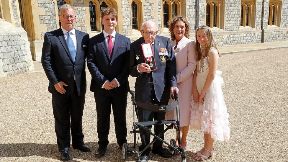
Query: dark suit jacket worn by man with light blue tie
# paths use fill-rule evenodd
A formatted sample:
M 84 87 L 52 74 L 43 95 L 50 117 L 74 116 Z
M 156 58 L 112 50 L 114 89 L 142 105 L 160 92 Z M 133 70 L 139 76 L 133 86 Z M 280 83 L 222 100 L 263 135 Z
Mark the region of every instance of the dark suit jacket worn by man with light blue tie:
M 75 30 L 77 40 L 77 51 L 75 62 L 72 61 L 62 29 L 47 32 L 44 35 L 42 48 L 42 66 L 49 80 L 48 91 L 59 93 L 54 84 L 63 81 L 68 84 L 64 86 L 66 94 L 74 93 L 74 78 L 76 76 L 76 87 L 78 95 L 86 93 L 85 57 L 89 40 L 89 34 Z

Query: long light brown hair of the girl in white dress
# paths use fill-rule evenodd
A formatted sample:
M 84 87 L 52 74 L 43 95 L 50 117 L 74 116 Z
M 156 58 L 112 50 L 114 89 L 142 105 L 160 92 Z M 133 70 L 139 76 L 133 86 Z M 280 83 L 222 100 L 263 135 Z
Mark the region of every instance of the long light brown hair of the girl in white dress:
M 197 32 L 199 30 L 202 30 L 204 32 L 205 36 L 207 37 L 207 44 L 206 44 L 205 49 L 203 49 L 203 46 L 197 40 Z M 195 60 L 196 61 L 201 60 L 202 57 L 203 58 L 207 57 L 210 54 L 212 47 L 214 47 L 217 50 L 219 57 L 221 57 L 221 55 L 218 51 L 218 48 L 215 44 L 215 41 L 213 39 L 212 32 L 208 26 L 202 25 L 202 26 L 198 27 L 196 32 L 195 32 L 195 37 L 196 37 L 195 38 L 195 41 L 196 41 L 196 43 L 195 43 Z M 205 51 L 205 53 L 203 53 L 203 51 Z

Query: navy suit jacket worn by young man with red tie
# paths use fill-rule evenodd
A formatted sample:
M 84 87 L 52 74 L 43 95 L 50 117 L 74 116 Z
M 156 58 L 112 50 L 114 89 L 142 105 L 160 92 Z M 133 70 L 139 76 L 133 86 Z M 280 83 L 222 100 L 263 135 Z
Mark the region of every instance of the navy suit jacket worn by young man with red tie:
M 96 93 L 123 93 L 129 91 L 129 49 L 130 39 L 116 33 L 113 54 L 110 59 L 103 32 L 90 38 L 87 53 L 87 66 L 91 73 L 90 91 Z M 112 81 L 114 78 L 120 87 L 112 90 L 102 89 L 105 81 Z

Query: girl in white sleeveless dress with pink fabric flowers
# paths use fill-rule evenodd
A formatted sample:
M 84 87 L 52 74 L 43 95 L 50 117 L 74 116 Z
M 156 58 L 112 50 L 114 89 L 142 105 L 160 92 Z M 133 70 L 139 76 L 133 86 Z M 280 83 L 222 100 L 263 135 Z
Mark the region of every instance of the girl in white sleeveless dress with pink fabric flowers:
M 230 128 L 227 108 L 221 86 L 222 71 L 217 71 L 220 53 L 208 26 L 196 30 L 195 59 L 197 67 L 193 74 L 190 128 L 204 133 L 204 147 L 194 153 L 196 160 L 206 160 L 213 153 L 214 139 L 229 140 Z

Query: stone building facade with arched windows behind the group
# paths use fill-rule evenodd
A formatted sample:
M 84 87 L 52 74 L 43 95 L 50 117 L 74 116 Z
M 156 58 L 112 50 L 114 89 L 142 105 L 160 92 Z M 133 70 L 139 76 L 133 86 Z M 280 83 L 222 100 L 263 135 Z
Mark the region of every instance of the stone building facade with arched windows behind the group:
M 119 14 L 116 31 L 131 41 L 147 20 L 169 37 L 166 22 L 175 15 L 189 21 L 191 39 L 198 26 L 209 25 L 217 45 L 288 40 L 288 0 L 2 0 L 1 18 L 27 31 L 33 60 L 41 59 L 44 33 L 60 27 L 62 4 L 75 7 L 75 28 L 91 37 L 102 32 L 102 9 L 113 7 Z

